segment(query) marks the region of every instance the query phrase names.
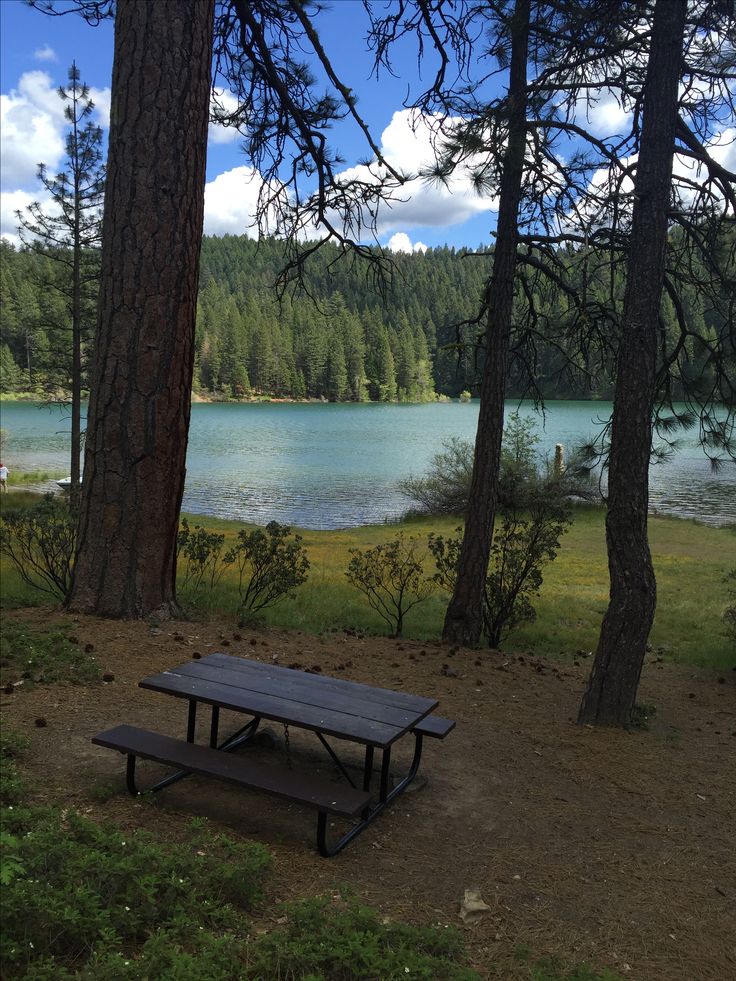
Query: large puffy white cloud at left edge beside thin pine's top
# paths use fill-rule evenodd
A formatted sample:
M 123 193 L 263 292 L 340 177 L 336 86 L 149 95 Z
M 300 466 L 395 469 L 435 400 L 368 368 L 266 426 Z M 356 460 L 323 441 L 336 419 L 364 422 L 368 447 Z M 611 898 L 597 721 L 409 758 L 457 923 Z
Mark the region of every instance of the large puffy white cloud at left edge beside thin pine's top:
M 64 154 L 64 124 L 64 106 L 46 72 L 25 72 L 17 89 L 0 95 L 3 187 L 33 187 L 39 163 L 57 166 Z

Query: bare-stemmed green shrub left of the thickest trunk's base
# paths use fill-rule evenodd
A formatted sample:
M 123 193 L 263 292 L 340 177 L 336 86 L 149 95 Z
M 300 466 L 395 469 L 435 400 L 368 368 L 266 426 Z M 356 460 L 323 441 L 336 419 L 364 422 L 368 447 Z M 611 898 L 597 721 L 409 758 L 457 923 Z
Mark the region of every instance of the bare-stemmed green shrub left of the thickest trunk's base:
M 53 494 L 0 518 L 0 553 L 8 556 L 26 585 L 57 599 L 71 585 L 75 537 L 68 505 Z

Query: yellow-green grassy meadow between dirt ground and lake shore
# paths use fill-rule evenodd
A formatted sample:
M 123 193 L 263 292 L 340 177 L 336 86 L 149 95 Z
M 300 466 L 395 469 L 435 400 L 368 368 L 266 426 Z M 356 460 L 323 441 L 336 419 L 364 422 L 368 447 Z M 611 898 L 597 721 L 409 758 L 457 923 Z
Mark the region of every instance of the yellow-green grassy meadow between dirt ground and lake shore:
M 5 506 L 15 495 L 8 494 Z M 19 499 L 27 500 L 27 495 Z M 188 515 L 190 525 L 234 541 L 244 527 L 239 522 Z M 309 578 L 293 598 L 262 614 L 266 624 L 320 634 L 355 629 L 386 634 L 388 626 L 370 609 L 364 596 L 345 578 L 351 548 L 366 549 L 393 539 L 398 533 L 418 539 L 425 550 L 427 535 L 452 535 L 454 518 L 414 518 L 398 524 L 348 528 L 340 531 L 300 531 L 310 561 Z M 736 565 L 736 528 L 713 528 L 694 521 L 653 516 L 650 543 L 658 583 L 657 616 L 650 643 L 666 660 L 725 668 L 736 664 L 736 650 L 726 636 L 722 620 L 728 603 L 724 578 Z M 433 571 L 427 555 L 426 569 Z M 33 594 L 2 559 L 3 605 L 35 605 L 43 594 Z M 594 649 L 608 597 L 604 514 L 580 507 L 562 539 L 554 563 L 544 570 L 544 583 L 535 600 L 537 618 L 508 634 L 502 647 L 534 651 L 550 657 L 570 658 Z M 237 616 L 235 573 L 228 570 L 218 585 L 196 598 L 180 595 L 194 618 L 207 613 Z M 436 640 L 441 632 L 445 593 L 438 591 L 415 607 L 406 618 L 404 636 Z

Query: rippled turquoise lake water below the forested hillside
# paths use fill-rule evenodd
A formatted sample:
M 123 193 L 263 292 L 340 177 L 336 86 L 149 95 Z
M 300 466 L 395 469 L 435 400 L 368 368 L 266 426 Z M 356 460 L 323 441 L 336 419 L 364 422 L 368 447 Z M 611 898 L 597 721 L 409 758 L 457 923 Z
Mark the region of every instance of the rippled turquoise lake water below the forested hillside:
M 507 411 L 517 407 L 509 402 Z M 610 409 L 604 402 L 550 402 L 546 417 L 537 417 L 540 449 L 551 456 L 562 443 L 569 450 L 599 432 Z M 523 404 L 521 412 L 534 415 L 533 406 Z M 411 505 L 398 481 L 421 474 L 443 440 L 473 439 L 477 419 L 477 403 L 196 404 L 184 509 L 302 528 L 380 523 Z M 58 409 L 3 402 L 0 425 L 11 471 L 68 472 L 69 424 Z M 652 510 L 736 523 L 736 467 L 712 473 L 694 438 L 652 467 L 650 485 Z

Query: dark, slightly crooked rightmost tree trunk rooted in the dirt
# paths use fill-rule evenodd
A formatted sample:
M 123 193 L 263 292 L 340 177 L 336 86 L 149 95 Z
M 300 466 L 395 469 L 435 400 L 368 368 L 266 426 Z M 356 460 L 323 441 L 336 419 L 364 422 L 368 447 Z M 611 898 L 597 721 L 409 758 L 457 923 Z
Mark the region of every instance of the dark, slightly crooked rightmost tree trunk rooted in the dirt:
M 580 706 L 584 723 L 629 723 L 656 606 L 647 540 L 649 457 L 685 13 L 686 0 L 657 0 L 654 9 L 611 430 L 611 592 Z

